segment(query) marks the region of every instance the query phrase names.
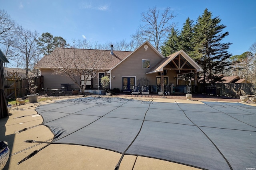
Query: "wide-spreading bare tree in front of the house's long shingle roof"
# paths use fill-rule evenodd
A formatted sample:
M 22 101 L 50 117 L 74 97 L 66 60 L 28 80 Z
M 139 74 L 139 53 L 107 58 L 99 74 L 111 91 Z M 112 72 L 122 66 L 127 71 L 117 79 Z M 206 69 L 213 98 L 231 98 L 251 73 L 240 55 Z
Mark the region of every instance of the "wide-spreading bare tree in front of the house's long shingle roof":
M 74 45 L 77 47 L 78 45 Z M 69 77 L 79 88 L 82 94 L 89 78 L 94 78 L 96 72 L 103 70 L 108 62 L 109 51 L 92 49 L 56 48 L 46 59 L 56 74 Z M 98 47 L 100 48 L 100 47 Z M 44 56 L 47 57 L 47 56 Z

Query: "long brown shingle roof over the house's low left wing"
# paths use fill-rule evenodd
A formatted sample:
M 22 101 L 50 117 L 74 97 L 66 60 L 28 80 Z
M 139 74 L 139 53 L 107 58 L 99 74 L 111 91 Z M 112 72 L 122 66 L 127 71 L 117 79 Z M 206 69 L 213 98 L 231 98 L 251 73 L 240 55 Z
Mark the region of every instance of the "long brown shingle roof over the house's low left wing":
M 118 64 L 121 60 L 123 60 L 125 57 L 127 57 L 131 51 L 114 51 L 114 55 L 110 54 L 110 50 L 98 50 L 98 49 L 72 49 L 72 48 L 56 48 L 54 51 L 58 51 L 59 54 L 62 55 L 74 55 L 74 52 L 76 53 L 77 57 L 80 57 L 82 59 L 83 57 L 86 58 L 86 54 L 100 54 L 101 57 L 105 57 L 109 59 L 109 62 L 106 62 L 106 64 L 103 66 L 102 69 L 109 70 L 112 67 L 114 67 L 116 64 Z M 54 53 L 54 52 L 53 52 Z M 52 59 L 52 55 L 44 55 L 44 57 L 38 61 L 38 63 L 34 66 L 34 68 L 54 68 L 57 64 L 50 63 L 56 62 Z M 72 67 L 70 62 L 70 67 Z M 92 63 L 93 64 L 93 63 Z M 83 65 L 78 66 L 80 68 L 83 68 Z M 97 68 L 97 66 L 95 66 Z

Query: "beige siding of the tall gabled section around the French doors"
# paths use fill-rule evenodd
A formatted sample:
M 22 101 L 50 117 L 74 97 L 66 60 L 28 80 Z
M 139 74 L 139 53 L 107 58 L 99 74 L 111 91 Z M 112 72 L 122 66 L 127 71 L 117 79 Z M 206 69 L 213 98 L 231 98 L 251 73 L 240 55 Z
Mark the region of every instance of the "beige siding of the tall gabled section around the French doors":
M 135 76 L 136 85 L 138 85 L 137 83 L 140 78 L 147 78 L 150 81 L 149 85 L 156 85 L 156 76 L 160 75 L 158 75 L 158 73 L 146 74 L 149 69 L 142 68 L 142 59 L 150 60 L 150 66 L 152 68 L 162 57 L 151 48 L 145 51 L 143 46 L 140 47 L 140 49 L 137 49 L 132 55 L 111 70 L 111 88 L 119 88 L 122 90 L 122 76 Z M 113 76 L 115 76 L 115 78 L 113 78 Z M 174 79 L 176 72 L 174 70 L 168 70 L 165 76 L 168 76 L 168 84 L 176 84 L 176 80 Z M 140 84 L 140 86 L 142 85 L 145 84 Z

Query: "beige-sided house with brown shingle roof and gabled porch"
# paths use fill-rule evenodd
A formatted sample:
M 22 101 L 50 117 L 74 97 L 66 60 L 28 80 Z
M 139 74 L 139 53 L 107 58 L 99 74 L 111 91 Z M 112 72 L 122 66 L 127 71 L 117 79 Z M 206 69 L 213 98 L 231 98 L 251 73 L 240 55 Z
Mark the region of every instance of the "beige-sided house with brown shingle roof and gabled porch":
M 58 50 L 66 50 L 66 53 L 74 51 L 74 49 L 63 48 Z M 76 49 L 80 53 L 86 50 L 88 49 Z M 100 78 L 104 75 L 110 76 L 110 89 L 118 88 L 122 92 L 130 92 L 134 85 L 148 85 L 154 88 L 161 84 L 177 86 L 176 77 L 179 74 L 194 73 L 197 75 L 197 72 L 203 71 L 183 50 L 164 57 L 148 41 L 132 52 L 113 51 L 112 47 L 111 50 L 98 51 L 102 51 L 104 57 L 108 57 L 111 62 L 106 63 L 102 71 L 96 72 L 96 76 L 88 81 L 90 83 L 86 84 L 88 88 L 98 88 Z M 50 58 L 51 55 L 45 55 L 34 66 L 40 70 L 40 75 L 44 76 L 44 87 L 60 88 L 62 84 L 74 84 L 69 78 L 54 74 L 53 65 L 47 63 Z

